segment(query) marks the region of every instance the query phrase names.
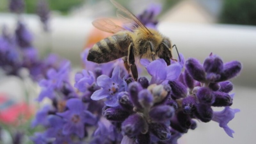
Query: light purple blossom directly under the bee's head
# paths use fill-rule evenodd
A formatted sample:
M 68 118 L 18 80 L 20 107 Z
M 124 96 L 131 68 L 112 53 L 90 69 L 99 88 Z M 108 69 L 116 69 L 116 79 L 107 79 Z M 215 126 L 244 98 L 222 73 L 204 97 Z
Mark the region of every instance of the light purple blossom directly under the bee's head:
M 141 59 L 140 63 L 147 68 L 152 76 L 150 83 L 161 84 L 165 80 L 174 81 L 180 76 L 182 66 L 179 63 L 167 66 L 163 59 L 150 62 L 148 59 Z

